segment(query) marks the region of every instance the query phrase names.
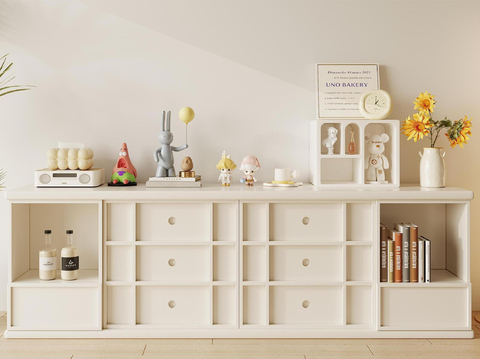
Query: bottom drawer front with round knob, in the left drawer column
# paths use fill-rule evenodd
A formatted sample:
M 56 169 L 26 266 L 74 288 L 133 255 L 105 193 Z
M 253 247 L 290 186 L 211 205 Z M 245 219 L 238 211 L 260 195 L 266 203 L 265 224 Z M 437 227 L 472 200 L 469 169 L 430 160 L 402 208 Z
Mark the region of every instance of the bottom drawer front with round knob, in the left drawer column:
M 137 287 L 137 324 L 209 324 L 208 286 Z

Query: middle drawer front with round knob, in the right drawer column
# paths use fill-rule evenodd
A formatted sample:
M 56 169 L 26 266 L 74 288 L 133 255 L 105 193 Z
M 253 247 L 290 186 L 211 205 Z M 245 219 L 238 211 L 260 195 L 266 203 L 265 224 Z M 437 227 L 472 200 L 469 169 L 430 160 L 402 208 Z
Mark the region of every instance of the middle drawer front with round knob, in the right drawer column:
M 341 246 L 270 246 L 270 280 L 342 281 Z

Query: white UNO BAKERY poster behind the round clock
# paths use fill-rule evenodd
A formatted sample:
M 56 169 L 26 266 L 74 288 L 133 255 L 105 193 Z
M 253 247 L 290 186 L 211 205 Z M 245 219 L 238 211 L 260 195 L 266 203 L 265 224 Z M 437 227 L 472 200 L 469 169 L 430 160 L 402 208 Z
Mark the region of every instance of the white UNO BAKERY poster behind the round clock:
M 317 118 L 363 118 L 358 102 L 380 88 L 378 64 L 317 64 Z

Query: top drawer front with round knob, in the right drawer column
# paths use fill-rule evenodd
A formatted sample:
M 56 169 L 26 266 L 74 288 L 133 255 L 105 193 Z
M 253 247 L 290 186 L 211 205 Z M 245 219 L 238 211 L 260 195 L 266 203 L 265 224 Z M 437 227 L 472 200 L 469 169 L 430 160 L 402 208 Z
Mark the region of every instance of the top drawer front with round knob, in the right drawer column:
M 270 240 L 342 241 L 342 204 L 270 205 Z

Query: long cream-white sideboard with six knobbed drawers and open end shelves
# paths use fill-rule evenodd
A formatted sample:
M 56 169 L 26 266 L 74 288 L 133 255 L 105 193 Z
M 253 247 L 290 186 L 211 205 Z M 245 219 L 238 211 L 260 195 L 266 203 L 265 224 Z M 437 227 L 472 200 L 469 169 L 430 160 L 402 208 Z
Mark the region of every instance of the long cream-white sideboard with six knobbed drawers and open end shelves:
M 471 191 L 261 185 L 8 191 L 7 338 L 472 338 Z M 379 224 L 432 240 L 432 283 L 381 283 Z M 77 281 L 38 279 L 73 229 Z

